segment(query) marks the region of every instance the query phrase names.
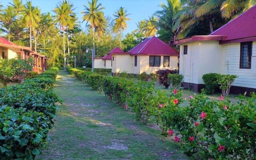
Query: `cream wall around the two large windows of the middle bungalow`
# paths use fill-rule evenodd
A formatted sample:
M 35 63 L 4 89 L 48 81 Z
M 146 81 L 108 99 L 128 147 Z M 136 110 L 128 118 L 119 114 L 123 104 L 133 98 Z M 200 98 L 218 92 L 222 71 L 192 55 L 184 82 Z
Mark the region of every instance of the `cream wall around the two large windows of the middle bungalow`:
M 176 61 L 176 63 L 175 63 Z M 178 69 L 178 57 L 170 57 L 170 67 L 164 67 L 164 56 L 161 56 L 160 67 L 149 66 L 149 56 L 140 56 L 140 73 L 146 72 L 147 74 L 154 73 L 158 70 L 175 70 Z

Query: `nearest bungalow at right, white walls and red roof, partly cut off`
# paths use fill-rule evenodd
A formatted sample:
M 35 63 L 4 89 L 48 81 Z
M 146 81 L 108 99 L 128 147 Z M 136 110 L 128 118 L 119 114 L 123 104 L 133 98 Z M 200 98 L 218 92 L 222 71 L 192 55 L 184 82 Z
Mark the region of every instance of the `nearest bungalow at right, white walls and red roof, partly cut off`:
M 208 36 L 192 36 L 171 42 L 180 46 L 180 74 L 185 86 L 199 92 L 203 74 L 215 72 L 239 76 L 230 92 L 256 92 L 256 6 Z

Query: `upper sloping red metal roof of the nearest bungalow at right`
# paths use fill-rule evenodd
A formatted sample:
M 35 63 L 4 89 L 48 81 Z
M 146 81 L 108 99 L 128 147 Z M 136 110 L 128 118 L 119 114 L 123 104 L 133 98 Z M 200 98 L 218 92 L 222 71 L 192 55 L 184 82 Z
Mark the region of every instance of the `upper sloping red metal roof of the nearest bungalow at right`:
M 210 35 L 227 35 L 224 41 L 253 37 L 256 36 L 255 25 L 256 5 Z

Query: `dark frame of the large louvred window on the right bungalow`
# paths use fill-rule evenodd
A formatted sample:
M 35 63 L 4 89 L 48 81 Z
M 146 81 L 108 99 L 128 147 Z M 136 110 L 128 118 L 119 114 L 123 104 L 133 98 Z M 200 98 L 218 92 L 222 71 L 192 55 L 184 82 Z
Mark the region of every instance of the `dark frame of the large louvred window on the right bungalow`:
M 243 45 L 247 44 L 248 45 L 248 67 L 244 67 L 242 66 L 242 49 L 243 49 Z M 240 60 L 239 60 L 239 68 L 240 69 L 251 69 L 252 67 L 252 42 L 241 42 L 240 43 Z

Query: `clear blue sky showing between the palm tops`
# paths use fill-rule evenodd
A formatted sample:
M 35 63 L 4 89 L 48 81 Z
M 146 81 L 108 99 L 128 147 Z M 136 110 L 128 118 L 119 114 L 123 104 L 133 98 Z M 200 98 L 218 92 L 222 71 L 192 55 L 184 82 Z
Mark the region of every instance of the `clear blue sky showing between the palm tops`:
M 26 0 L 22 0 L 23 3 L 26 3 Z M 56 7 L 58 2 L 62 0 L 32 0 L 33 6 L 38 6 L 41 9 L 41 12 L 52 12 Z M 76 7 L 75 11 L 78 15 L 79 21 L 82 22 L 82 14 L 84 11 L 84 6 L 88 6 L 88 0 L 70 0 L 70 2 Z M 91 2 L 91 0 L 90 0 Z M 105 16 L 112 16 L 116 10 L 121 6 L 127 9 L 128 16 L 130 21 L 127 21 L 128 28 L 127 32 L 132 32 L 137 29 L 136 23 L 140 20 L 148 19 L 148 16 L 152 16 L 157 10 L 161 10 L 159 7 L 161 2 L 166 2 L 166 0 L 98 0 L 98 3 L 101 3 L 106 9 L 103 10 Z M 0 0 L 0 4 L 4 7 L 12 3 L 12 0 Z M 112 18 L 114 18 L 112 16 Z M 83 22 L 81 26 L 84 28 L 86 22 Z

